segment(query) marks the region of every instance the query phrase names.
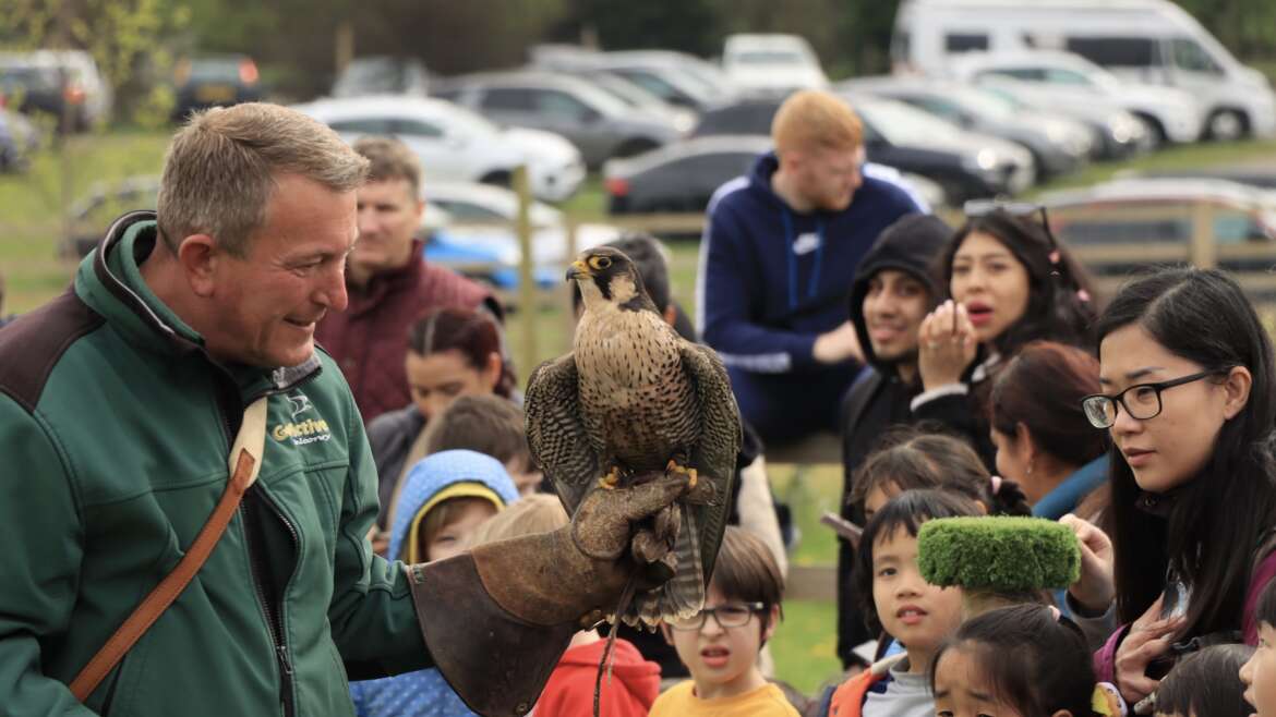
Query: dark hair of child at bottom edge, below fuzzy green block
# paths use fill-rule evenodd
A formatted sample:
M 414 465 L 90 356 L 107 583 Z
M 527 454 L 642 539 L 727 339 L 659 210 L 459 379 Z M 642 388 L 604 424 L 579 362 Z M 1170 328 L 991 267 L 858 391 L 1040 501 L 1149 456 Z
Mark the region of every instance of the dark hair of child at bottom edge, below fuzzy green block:
M 1095 669 L 1081 628 L 1042 605 L 999 607 L 962 623 L 930 661 L 953 649 L 971 654 L 993 697 L 1018 714 L 1095 714 Z

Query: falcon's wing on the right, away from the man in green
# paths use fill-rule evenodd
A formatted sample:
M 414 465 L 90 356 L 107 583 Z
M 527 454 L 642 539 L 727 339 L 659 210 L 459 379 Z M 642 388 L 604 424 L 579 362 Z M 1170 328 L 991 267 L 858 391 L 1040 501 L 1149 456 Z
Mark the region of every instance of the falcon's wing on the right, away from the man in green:
M 731 513 L 731 484 L 735 482 L 741 441 L 740 410 L 731 393 L 726 366 L 712 348 L 683 342 L 680 353 L 701 404 L 701 439 L 692 452 L 692 466 L 695 466 L 701 480 L 712 480 L 715 487 L 713 505 L 688 506 L 698 514 L 699 552 L 704 583 L 708 584 Z

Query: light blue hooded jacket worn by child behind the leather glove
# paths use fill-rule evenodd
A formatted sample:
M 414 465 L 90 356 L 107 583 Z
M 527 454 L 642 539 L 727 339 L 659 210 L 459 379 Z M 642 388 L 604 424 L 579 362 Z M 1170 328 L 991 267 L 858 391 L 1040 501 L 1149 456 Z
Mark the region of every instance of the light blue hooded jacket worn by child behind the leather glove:
M 499 461 L 473 450 L 443 450 L 417 462 L 408 472 L 390 527 L 389 554 L 404 554 L 416 514 L 444 489 L 478 484 L 505 505 L 518 500 L 518 489 Z M 433 508 L 431 508 L 433 509 Z M 350 695 L 359 717 L 459 717 L 471 712 L 438 670 L 421 670 L 380 680 L 351 683 Z

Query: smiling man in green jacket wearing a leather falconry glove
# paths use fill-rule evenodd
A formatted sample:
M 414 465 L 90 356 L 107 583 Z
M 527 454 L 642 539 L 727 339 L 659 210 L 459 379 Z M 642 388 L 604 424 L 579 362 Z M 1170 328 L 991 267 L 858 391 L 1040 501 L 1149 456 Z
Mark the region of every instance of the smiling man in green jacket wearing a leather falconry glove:
M 365 174 L 297 112 L 197 115 L 158 212 L 117 219 L 71 290 L 0 332 L 0 714 L 350 714 L 347 677 L 430 665 L 477 712 L 522 714 L 619 597 L 633 565 L 607 556 L 684 478 L 441 563 L 370 551 L 373 458 L 313 339 L 346 306 Z M 66 685 L 190 547 L 260 397 L 256 482 L 79 704 Z

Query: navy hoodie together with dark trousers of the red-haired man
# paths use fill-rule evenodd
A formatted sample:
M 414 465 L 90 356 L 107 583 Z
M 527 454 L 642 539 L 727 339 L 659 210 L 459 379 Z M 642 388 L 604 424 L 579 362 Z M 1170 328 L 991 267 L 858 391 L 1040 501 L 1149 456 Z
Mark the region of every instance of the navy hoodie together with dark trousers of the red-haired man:
M 740 411 L 763 440 L 837 430 L 857 365 L 818 364 L 815 338 L 846 320 L 851 279 L 877 236 L 926 212 L 898 172 L 865 165 L 841 212 L 800 214 L 771 189 L 768 152 L 748 177 L 718 188 L 701 242 L 697 325 L 722 356 Z

